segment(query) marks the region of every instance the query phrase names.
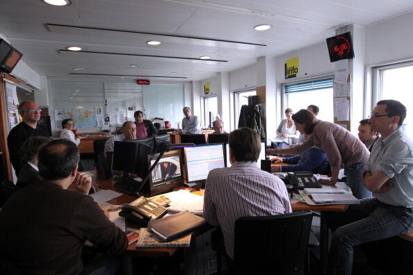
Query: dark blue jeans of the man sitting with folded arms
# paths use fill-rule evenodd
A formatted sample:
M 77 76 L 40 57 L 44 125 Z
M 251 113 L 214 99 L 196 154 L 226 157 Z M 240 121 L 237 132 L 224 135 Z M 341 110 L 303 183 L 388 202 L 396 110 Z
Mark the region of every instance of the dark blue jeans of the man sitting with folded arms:
M 345 213 L 326 213 L 327 224 L 337 228 L 332 236 L 327 274 L 350 275 L 355 245 L 373 242 L 413 230 L 413 210 L 363 199 Z M 341 227 L 340 224 L 345 224 Z

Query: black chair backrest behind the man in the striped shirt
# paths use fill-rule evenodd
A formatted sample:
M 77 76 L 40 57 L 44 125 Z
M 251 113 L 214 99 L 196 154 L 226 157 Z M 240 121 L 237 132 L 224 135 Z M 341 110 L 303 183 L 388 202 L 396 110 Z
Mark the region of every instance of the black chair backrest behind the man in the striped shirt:
M 241 217 L 235 222 L 235 274 L 305 274 L 312 214 Z

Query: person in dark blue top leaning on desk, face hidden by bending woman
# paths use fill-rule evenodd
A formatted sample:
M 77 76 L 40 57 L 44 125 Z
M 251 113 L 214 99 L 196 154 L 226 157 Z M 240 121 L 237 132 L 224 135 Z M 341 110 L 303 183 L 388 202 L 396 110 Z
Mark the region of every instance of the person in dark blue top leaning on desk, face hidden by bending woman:
M 308 140 L 311 135 L 304 135 Z M 291 158 L 273 158 L 274 163 L 290 163 L 295 165 L 273 166 L 271 172 L 312 172 L 313 174 L 324 174 L 328 166 L 328 159 L 323 150 L 313 147 L 300 156 Z

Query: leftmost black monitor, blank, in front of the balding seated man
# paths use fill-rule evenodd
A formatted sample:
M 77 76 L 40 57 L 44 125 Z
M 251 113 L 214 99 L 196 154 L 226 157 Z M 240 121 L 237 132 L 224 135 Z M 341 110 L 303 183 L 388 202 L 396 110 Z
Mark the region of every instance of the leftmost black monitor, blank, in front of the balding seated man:
M 138 142 L 114 142 L 112 160 L 113 170 L 135 174 L 137 157 Z

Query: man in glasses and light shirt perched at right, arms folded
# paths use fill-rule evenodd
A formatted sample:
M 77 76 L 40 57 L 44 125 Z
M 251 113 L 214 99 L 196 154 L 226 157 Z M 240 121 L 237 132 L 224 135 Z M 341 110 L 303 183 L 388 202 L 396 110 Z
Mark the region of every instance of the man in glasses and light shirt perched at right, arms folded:
M 396 100 L 378 101 L 371 113 L 371 127 L 381 137 L 364 166 L 363 181 L 374 198 L 328 214 L 327 223 L 336 229 L 328 274 L 351 274 L 356 245 L 413 231 L 413 141 L 400 128 L 405 117 L 405 106 Z

